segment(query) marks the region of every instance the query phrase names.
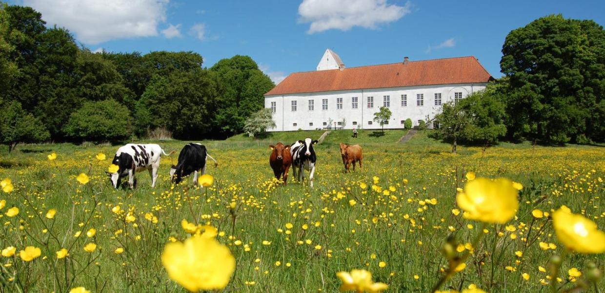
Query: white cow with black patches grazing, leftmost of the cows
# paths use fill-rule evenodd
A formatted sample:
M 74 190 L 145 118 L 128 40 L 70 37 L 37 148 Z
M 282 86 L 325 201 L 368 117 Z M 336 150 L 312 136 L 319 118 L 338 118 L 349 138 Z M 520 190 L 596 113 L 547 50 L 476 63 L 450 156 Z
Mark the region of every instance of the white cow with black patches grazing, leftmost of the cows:
M 124 146 L 120 146 L 112 161 L 114 165 L 117 165 L 120 168 L 116 173 L 108 173 L 111 178 L 111 184 L 117 189 L 120 187 L 120 179 L 128 176 L 128 185 L 130 188 L 134 188 L 134 185 L 136 184 L 134 174 L 143 170 L 149 170 L 149 175 L 151 175 L 151 187 L 155 187 L 157 170 L 160 168 L 160 156 L 162 156 L 162 154 L 170 156 L 170 154 L 166 154 L 164 150 L 162 150 L 162 147 L 155 144 L 138 145 L 128 143 Z

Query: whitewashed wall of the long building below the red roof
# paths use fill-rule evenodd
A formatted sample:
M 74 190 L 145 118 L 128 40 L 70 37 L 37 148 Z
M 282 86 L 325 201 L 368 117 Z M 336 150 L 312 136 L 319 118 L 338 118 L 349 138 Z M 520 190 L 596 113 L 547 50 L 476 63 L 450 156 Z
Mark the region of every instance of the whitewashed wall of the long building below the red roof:
M 321 93 L 302 93 L 265 96 L 265 107 L 271 108 L 275 102 L 273 120 L 276 127 L 269 131 L 315 130 L 324 128 L 324 122 L 331 118 L 339 122 L 346 119 L 345 129 L 379 129 L 381 126 L 373 122 L 374 113 L 383 106 L 384 96 L 390 97 L 390 110 L 393 113 L 385 129 L 403 128 L 403 120 L 410 118 L 413 125 L 418 120 L 429 119 L 441 111 L 441 106 L 435 105 L 435 94 L 441 93 L 442 104 L 454 99 L 454 93 L 462 93 L 466 97 L 471 93 L 483 90 L 486 84 L 457 84 L 429 85 L 420 87 L 378 88 L 370 90 L 330 91 Z M 407 95 L 407 106 L 402 107 L 402 95 Z M 416 95 L 423 94 L 424 105 L 416 105 Z M 342 109 L 336 108 L 336 99 L 342 98 Z M 352 108 L 353 97 L 358 97 L 358 108 Z M 373 108 L 368 108 L 368 97 L 373 97 Z M 328 100 L 328 110 L 322 110 L 322 99 Z M 296 111 L 292 111 L 292 100 L 296 100 Z M 309 100 L 313 100 L 313 111 L 309 111 Z M 356 122 L 356 125 L 353 124 Z M 370 124 L 371 122 L 371 124 Z M 294 125 L 296 123 L 296 125 Z M 313 123 L 313 125 L 309 125 Z M 334 126 L 332 124 L 332 126 Z

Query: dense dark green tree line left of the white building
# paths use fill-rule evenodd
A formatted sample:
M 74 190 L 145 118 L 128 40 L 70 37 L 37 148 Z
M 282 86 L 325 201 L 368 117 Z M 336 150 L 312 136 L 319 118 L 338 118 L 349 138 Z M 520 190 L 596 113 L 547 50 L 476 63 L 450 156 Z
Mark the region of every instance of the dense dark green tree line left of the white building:
M 0 2 L 0 105 L 41 132 L 21 141 L 127 139 L 155 128 L 182 139 L 240 133 L 273 82 L 248 56 L 202 65 L 191 51 L 93 53 L 33 8 Z

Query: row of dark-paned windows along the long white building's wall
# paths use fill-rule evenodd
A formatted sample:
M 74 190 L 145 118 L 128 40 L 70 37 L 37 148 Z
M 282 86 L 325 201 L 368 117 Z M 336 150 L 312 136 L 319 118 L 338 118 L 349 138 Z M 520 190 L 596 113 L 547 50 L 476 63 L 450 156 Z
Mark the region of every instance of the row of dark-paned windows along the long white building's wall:
M 462 92 L 454 93 L 454 100 L 457 102 L 462 99 Z M 295 112 L 298 110 L 298 101 L 292 100 L 290 104 L 290 111 Z M 441 93 L 436 93 L 434 96 L 434 103 L 436 106 L 442 104 Z M 358 97 L 351 98 L 351 108 L 358 108 Z M 424 106 L 424 94 L 416 94 L 416 107 Z M 391 96 L 382 96 L 382 107 L 391 107 Z M 408 95 L 401 95 L 401 107 L 408 107 Z M 374 108 L 374 97 L 367 97 L 367 108 Z M 342 109 L 342 97 L 336 98 L 336 109 Z M 276 102 L 271 102 L 271 110 L 273 113 L 277 111 Z M 328 110 L 328 99 L 321 99 L 321 110 Z M 309 100 L 309 111 L 315 111 L 315 100 Z

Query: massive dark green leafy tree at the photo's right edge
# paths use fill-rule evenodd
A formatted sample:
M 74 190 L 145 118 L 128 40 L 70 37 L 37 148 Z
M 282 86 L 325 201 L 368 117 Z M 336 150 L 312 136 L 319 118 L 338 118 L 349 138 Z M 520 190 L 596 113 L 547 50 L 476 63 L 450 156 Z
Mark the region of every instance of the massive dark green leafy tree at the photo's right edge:
M 500 61 L 511 137 L 545 142 L 605 137 L 605 31 L 594 21 L 537 19 L 506 36 Z

